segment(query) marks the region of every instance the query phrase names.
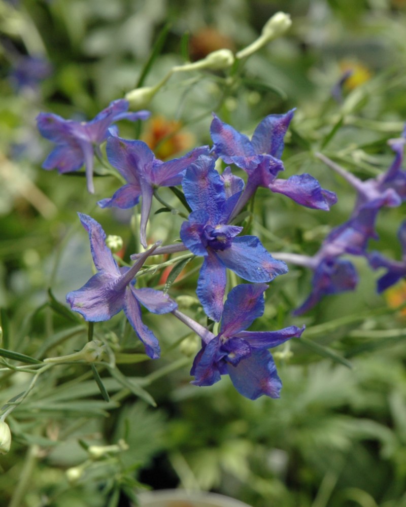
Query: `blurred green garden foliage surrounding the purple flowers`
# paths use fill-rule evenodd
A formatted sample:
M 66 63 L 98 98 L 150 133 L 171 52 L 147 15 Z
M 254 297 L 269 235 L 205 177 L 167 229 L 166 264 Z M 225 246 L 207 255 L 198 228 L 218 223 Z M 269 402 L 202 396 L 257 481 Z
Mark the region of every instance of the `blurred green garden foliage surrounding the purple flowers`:
M 260 189 L 246 228 L 271 252 L 312 255 L 355 201 L 353 189 L 314 153 L 361 179 L 393 160 L 387 140 L 401 135 L 406 120 L 406 2 L 0 2 L 1 347 L 42 357 L 83 346 L 83 321 L 64 304 L 92 274 L 78 211 L 122 236 L 125 260 L 137 247 L 137 213 L 96 205 L 117 188 L 103 165 L 95 162 L 95 195 L 86 192 L 82 173 L 41 168 L 52 146 L 37 131 L 39 112 L 89 120 L 136 86 L 155 85 L 174 65 L 244 48 L 280 10 L 292 27 L 238 75 L 225 69 L 173 76 L 147 105 L 151 119 L 121 122 L 120 135 L 145 140 L 168 160 L 211 144 L 212 112 L 251 135 L 266 115 L 295 107 L 283 177 L 309 172 L 339 201 L 317 211 Z M 399 259 L 403 218 L 404 204 L 384 209 L 370 249 Z M 166 213 L 153 217 L 150 241 L 179 238 L 182 219 L 167 220 Z M 292 266 L 270 284 L 265 315 L 253 329 L 307 325 L 307 341 L 275 350 L 280 400 L 244 399 L 228 378 L 210 388 L 190 385 L 198 344 L 171 316 L 145 315 L 162 345 L 159 361 L 118 365 L 139 391 L 102 372 L 107 403 L 88 365 L 48 371 L 7 419 L 13 441 L 0 457 L 2 505 L 125 506 L 146 485 L 219 492 L 253 507 L 406 506 L 406 313 L 398 309 L 406 283 L 379 296 L 379 273 L 362 258 L 352 261 L 356 290 L 328 296 L 300 317 L 292 310 L 308 296 L 312 274 Z M 193 299 L 198 266 L 188 264 L 170 295 L 183 297 L 182 308 L 202 319 Z M 167 276 L 160 271 L 149 283 L 162 287 Z M 97 326 L 113 349 L 141 352 L 121 316 Z M 2 365 L 3 405 L 32 374 Z M 119 439 L 127 450 L 83 465 L 90 445 Z M 72 468 L 76 475 L 66 475 Z

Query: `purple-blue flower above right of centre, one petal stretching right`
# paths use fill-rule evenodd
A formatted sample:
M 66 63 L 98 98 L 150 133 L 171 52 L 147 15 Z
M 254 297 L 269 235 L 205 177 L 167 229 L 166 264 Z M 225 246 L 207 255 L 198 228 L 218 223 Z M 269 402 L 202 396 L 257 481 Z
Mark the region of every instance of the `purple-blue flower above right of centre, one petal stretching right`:
M 256 127 L 251 140 L 213 115 L 210 132 L 214 152 L 226 164 L 235 164 L 248 174 L 244 193 L 231 218 L 241 211 L 258 187 L 284 194 L 298 204 L 315 209 L 328 210 L 336 202 L 334 192 L 322 189 L 310 174 L 277 178 L 278 173 L 284 170 L 280 158 L 293 113 L 294 110 L 291 110 L 285 115 L 267 116 Z

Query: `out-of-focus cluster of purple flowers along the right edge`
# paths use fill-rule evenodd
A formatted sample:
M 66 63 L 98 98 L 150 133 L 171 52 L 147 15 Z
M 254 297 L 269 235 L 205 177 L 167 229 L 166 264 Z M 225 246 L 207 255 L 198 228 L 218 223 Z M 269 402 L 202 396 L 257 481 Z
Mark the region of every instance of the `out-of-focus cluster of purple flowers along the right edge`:
M 406 275 L 406 224 L 400 226 L 398 237 L 403 251 L 402 261 L 386 259 L 379 252 L 368 252 L 369 239 L 379 239 L 376 221 L 383 207 L 399 206 L 406 200 L 406 171 L 402 170 L 406 128 L 402 137 L 390 139 L 389 146 L 395 158 L 384 173 L 364 181 L 322 154 L 318 158 L 343 176 L 356 190 L 357 197 L 350 219 L 330 231 L 320 249 L 312 257 L 291 253 L 277 257 L 313 271 L 312 291 L 295 310 L 299 315 L 313 308 L 323 296 L 353 290 L 358 283 L 357 271 L 346 255 L 364 256 L 373 269 L 386 268 L 387 273 L 378 280 L 378 293 Z

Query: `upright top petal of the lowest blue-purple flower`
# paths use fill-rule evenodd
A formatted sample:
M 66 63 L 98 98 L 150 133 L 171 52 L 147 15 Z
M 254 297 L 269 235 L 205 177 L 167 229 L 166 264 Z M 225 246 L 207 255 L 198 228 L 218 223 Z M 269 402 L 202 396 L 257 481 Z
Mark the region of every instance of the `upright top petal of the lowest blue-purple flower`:
M 267 288 L 266 283 L 246 283 L 231 289 L 224 303 L 220 334 L 233 336 L 261 317 L 265 306 L 263 293 Z

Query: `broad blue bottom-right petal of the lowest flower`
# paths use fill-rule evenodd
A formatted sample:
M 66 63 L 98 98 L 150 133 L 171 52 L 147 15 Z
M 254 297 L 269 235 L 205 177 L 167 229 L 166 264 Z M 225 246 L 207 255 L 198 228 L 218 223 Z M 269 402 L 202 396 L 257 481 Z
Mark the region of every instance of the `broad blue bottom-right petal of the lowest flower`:
M 256 400 L 262 394 L 279 398 L 282 382 L 267 350 L 254 351 L 237 366 L 227 364 L 227 371 L 235 389 L 250 400 Z

